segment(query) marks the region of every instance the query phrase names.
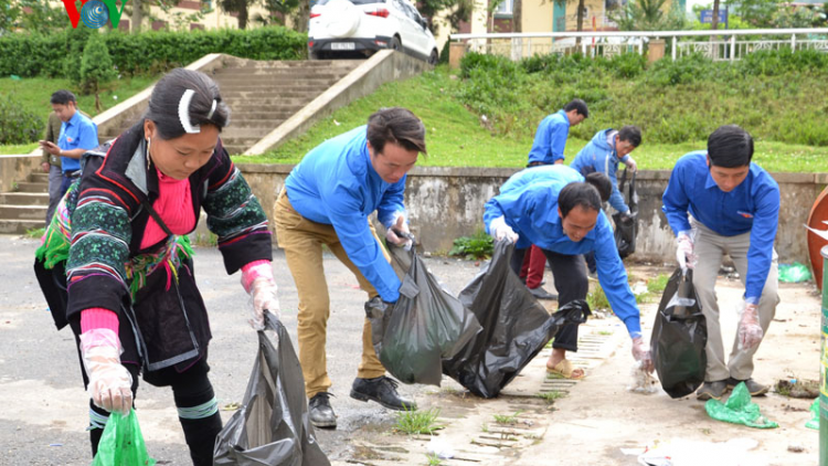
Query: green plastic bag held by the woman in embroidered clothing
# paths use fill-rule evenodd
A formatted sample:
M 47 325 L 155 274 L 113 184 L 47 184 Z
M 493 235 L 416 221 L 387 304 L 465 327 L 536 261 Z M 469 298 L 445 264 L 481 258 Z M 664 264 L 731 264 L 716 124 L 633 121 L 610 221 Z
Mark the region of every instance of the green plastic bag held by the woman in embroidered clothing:
M 98 453 L 92 460 L 92 466 L 152 466 L 156 460 L 147 454 L 141 427 L 135 410 L 123 416 L 117 413 L 109 415 L 106 428 L 100 435 Z

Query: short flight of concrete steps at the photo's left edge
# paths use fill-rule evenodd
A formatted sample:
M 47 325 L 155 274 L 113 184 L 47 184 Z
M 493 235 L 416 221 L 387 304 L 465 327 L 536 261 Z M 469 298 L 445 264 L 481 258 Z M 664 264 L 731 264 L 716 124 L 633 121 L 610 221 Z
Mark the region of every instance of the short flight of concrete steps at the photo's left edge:
M 0 193 L 0 233 L 22 234 L 45 225 L 49 174 L 31 173 L 13 192 Z

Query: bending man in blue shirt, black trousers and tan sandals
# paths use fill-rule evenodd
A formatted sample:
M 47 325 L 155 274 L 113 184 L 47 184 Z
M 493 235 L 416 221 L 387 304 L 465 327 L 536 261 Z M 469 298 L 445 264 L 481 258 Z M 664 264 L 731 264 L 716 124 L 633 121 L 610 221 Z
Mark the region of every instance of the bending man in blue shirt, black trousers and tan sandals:
M 531 171 L 531 170 L 528 170 Z M 609 181 L 603 174 L 608 195 Z M 649 348 L 641 337 L 640 313 L 627 283 L 627 271 L 615 248 L 613 229 L 601 210 L 598 190 L 590 182 L 537 180 L 506 190 L 486 203 L 486 231 L 496 240 L 516 242 L 512 269 L 520 269 L 523 256 L 532 244 L 541 248 L 552 267 L 560 306 L 585 299 L 588 290 L 582 254 L 594 251 L 598 266 L 598 282 L 618 318 L 633 339 L 633 356 L 652 371 Z M 566 351 L 577 351 L 577 326 L 562 328 L 552 345 L 546 361 L 550 373 L 578 379 L 584 375 L 573 369 Z

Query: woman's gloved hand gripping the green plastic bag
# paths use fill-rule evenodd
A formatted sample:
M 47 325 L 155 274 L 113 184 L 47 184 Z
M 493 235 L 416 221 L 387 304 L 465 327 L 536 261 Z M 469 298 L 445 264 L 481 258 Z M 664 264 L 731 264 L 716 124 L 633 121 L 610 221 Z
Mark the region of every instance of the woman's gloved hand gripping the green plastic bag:
M 120 363 L 120 341 L 108 328 L 81 333 L 81 357 L 87 391 L 96 406 L 109 412 L 129 414 L 132 409 L 132 375 Z

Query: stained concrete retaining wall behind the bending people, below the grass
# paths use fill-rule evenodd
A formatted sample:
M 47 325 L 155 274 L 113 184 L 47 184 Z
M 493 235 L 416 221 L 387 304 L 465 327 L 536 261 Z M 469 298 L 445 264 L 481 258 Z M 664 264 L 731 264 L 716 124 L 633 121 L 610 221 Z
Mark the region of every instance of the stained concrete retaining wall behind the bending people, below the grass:
M 240 165 L 245 179 L 273 219 L 276 195 L 293 166 Z M 517 169 L 416 167 L 408 174 L 405 203 L 412 230 L 423 248 L 446 252 L 458 236 L 482 227 L 486 201 L 498 193 L 500 184 Z M 661 194 L 670 172 L 638 173 L 639 236 L 637 261 L 673 261 L 673 236 L 661 212 Z M 776 250 L 779 261 L 807 263 L 808 252 L 803 226 L 816 197 L 828 184 L 828 173 L 774 173 L 782 191 Z

